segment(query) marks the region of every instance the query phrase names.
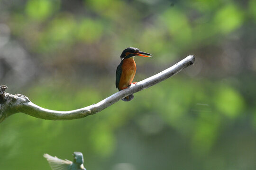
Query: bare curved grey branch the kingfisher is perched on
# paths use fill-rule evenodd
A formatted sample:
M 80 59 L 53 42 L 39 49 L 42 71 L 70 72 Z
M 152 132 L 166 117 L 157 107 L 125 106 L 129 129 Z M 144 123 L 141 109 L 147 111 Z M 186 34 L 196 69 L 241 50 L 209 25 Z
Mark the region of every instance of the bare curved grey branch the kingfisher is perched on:
M 49 120 L 70 120 L 83 118 L 109 107 L 110 105 L 118 102 L 119 100 L 132 93 L 141 91 L 165 80 L 166 78 L 169 78 L 170 76 L 173 76 L 184 68 L 192 65 L 194 63 L 194 60 L 195 57 L 190 55 L 185 59 L 181 60 L 180 62 L 176 63 L 174 66 L 165 69 L 164 71 L 156 74 L 155 76 L 146 78 L 145 80 L 142 80 L 135 85 L 132 84 L 129 88 L 114 93 L 110 97 L 102 100 L 101 102 L 98 102 L 97 104 L 92 104 L 90 106 L 71 111 L 56 111 L 44 109 L 31 102 L 26 96 L 22 94 L 13 95 L 6 93 L 5 89 L 7 88 L 7 86 L 2 85 L 0 87 L 0 122 L 8 116 L 18 112 L 22 112 L 36 118 Z

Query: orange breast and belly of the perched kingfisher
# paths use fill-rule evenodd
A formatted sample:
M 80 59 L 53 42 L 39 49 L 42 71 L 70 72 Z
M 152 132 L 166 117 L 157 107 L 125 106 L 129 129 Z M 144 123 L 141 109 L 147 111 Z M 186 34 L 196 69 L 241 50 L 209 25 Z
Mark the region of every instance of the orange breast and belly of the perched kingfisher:
M 136 64 L 133 57 L 124 59 L 122 64 L 122 74 L 119 81 L 119 90 L 128 87 L 132 83 L 132 80 L 136 73 Z

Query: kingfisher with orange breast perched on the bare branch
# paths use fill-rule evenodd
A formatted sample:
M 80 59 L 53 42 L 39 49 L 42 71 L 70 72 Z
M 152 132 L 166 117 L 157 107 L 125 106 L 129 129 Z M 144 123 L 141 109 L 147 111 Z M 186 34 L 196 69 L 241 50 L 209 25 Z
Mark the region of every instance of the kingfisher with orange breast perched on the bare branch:
M 132 84 L 132 80 L 136 73 L 135 56 L 151 57 L 152 55 L 139 51 L 139 49 L 134 47 L 128 47 L 122 52 L 120 56 L 121 62 L 116 71 L 116 87 L 119 91 L 128 88 Z M 136 83 L 137 82 L 134 82 L 133 84 Z M 132 100 L 133 97 L 133 94 L 130 94 L 123 98 L 122 101 L 128 102 Z

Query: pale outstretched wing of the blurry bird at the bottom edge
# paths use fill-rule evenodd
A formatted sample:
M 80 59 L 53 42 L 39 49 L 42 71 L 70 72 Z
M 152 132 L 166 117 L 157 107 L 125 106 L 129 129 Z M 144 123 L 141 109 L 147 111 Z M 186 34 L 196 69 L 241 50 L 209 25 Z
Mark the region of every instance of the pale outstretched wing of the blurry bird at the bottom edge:
M 47 153 L 44 154 L 44 157 L 49 162 L 52 170 L 70 170 L 70 167 L 72 165 L 72 161 L 62 160 L 57 158 L 56 156 L 53 157 Z

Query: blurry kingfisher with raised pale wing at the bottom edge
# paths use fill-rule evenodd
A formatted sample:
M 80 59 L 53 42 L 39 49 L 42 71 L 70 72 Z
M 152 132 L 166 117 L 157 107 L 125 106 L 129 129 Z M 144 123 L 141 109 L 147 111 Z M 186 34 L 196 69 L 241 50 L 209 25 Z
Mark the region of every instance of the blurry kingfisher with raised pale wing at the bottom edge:
M 47 153 L 44 154 L 44 157 L 49 162 L 52 170 L 86 170 L 83 167 L 83 156 L 81 152 L 73 153 L 73 162 L 66 159 L 59 159 L 56 156 L 53 157 Z

